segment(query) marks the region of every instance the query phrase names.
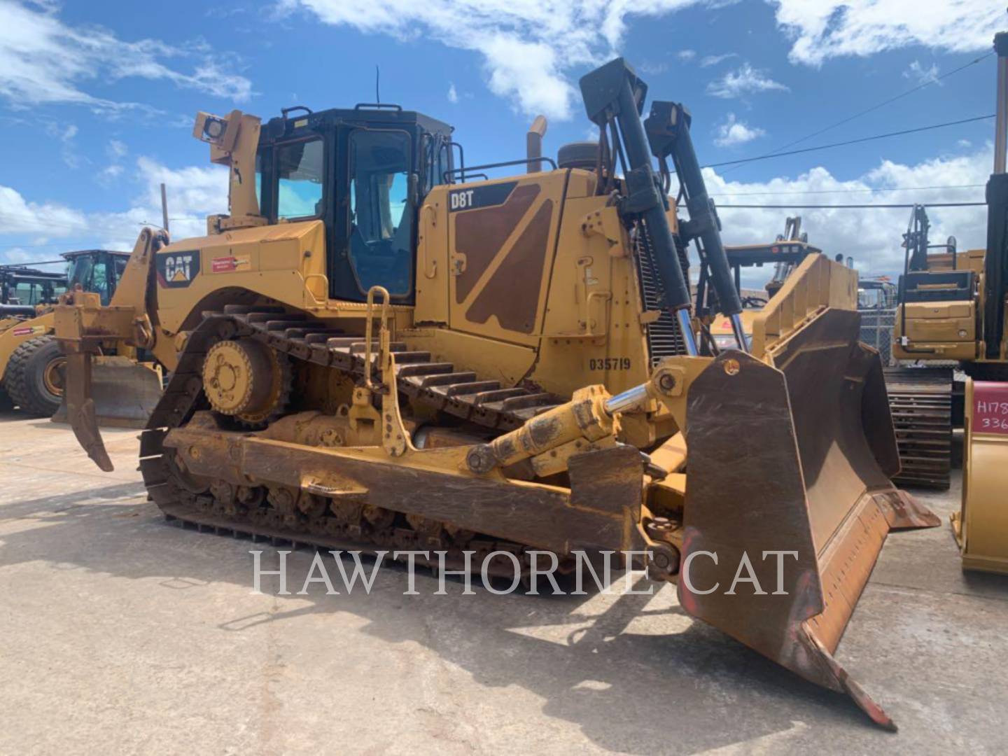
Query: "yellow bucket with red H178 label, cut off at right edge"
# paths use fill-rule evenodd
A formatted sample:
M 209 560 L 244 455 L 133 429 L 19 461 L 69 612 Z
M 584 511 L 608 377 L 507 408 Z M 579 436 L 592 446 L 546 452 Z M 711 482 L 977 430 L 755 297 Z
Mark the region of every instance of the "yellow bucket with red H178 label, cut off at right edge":
M 963 505 L 952 524 L 964 570 L 1008 574 L 1008 383 L 966 382 Z

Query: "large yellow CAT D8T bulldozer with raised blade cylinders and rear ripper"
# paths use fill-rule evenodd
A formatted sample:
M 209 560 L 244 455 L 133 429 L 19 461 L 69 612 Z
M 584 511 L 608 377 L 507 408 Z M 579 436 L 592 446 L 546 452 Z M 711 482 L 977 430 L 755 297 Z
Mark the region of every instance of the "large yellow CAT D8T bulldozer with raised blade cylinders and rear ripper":
M 201 113 L 229 215 L 168 245 L 144 231 L 121 297 L 56 309 L 77 437 L 112 469 L 91 361 L 109 339 L 149 349 L 172 375 L 140 470 L 167 518 L 525 571 L 642 551 L 686 612 L 891 728 L 834 652 L 887 533 L 938 523 L 889 481 L 855 274 L 808 256 L 750 347 L 688 111 L 642 119 L 622 58 L 581 90 L 600 138 L 558 163 L 540 120 L 524 158 L 467 166 L 451 126 L 399 106 Z M 709 356 L 690 244 L 734 324 Z

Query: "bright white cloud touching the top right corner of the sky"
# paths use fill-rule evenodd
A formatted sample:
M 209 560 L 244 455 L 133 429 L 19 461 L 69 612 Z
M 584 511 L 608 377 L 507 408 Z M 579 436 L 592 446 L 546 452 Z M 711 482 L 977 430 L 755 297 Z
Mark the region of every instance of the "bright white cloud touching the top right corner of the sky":
M 1002 3 L 941 0 L 771 0 L 791 36 L 795 62 L 820 66 L 842 55 L 866 56 L 924 45 L 952 52 L 990 47 L 1004 25 Z

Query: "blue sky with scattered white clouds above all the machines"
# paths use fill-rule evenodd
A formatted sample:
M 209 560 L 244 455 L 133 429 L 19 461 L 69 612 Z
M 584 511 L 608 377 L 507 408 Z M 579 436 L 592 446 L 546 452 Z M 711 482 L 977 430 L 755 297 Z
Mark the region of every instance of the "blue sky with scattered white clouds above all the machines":
M 592 133 L 578 78 L 623 54 L 652 96 L 694 115 L 702 162 L 763 154 L 991 48 L 996 2 L 908 0 L 0 0 L 0 261 L 129 248 L 226 207 L 223 169 L 191 136 L 198 110 L 347 107 L 381 97 L 454 124 L 473 161 L 522 154 L 537 113 L 547 153 Z M 628 9 L 635 9 L 630 12 Z M 994 112 L 995 58 L 799 146 Z M 983 198 L 993 122 L 709 173 L 719 204 Z M 869 192 L 888 187 L 950 190 Z M 743 197 L 745 196 L 745 197 Z M 798 212 L 798 211 L 795 211 Z M 772 238 L 786 210 L 722 211 L 730 242 Z M 810 241 L 868 272 L 899 265 L 908 211 L 803 211 Z M 982 245 L 983 209 L 935 210 L 935 235 Z

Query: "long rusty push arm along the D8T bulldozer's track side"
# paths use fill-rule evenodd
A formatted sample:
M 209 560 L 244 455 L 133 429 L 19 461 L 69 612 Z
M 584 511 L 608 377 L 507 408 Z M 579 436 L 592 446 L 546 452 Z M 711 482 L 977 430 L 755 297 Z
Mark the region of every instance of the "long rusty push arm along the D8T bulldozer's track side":
M 558 553 L 640 544 L 626 528 L 635 513 L 639 519 L 643 478 L 632 449 L 587 455 L 591 459 L 573 473 L 568 495 L 547 487 L 519 487 L 503 478 L 407 467 L 350 450 L 312 449 L 207 427 L 173 429 L 164 446 L 197 477 L 243 485 L 251 476 L 294 489 L 306 478 L 334 489 L 353 482 L 367 491 L 367 501 L 384 509 Z M 599 496 L 597 487 L 606 495 Z

